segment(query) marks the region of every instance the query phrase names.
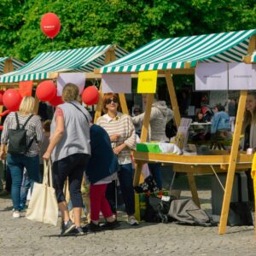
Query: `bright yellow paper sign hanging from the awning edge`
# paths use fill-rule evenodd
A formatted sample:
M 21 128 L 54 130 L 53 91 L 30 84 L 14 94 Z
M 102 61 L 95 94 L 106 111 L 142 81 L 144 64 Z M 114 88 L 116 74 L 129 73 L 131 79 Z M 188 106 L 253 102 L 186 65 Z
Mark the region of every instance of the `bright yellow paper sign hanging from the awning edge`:
M 143 71 L 138 73 L 137 92 L 155 93 L 156 91 L 157 70 Z

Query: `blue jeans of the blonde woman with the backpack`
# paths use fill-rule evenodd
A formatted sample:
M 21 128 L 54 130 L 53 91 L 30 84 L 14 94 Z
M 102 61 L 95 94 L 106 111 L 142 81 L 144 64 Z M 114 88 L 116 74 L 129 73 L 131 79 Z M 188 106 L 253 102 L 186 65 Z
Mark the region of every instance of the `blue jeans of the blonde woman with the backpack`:
M 22 154 L 7 154 L 7 164 L 12 177 L 11 197 L 15 211 L 20 211 L 20 187 L 24 168 L 30 179 L 31 188 L 39 182 L 39 156 L 28 157 Z

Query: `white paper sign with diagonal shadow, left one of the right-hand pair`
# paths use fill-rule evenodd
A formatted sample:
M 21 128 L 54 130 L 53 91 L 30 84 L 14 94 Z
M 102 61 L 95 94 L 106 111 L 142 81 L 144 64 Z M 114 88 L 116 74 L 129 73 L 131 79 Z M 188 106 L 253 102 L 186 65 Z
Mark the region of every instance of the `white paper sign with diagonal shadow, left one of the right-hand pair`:
M 195 90 L 228 90 L 228 64 L 198 63 Z

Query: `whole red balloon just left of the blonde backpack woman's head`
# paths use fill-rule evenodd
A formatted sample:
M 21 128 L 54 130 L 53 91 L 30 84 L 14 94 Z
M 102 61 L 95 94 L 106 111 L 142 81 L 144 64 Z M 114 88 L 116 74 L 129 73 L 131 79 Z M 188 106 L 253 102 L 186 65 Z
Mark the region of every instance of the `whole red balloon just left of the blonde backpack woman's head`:
M 17 111 L 20 107 L 21 100 L 22 97 L 18 90 L 9 89 L 3 94 L 3 105 L 10 111 Z

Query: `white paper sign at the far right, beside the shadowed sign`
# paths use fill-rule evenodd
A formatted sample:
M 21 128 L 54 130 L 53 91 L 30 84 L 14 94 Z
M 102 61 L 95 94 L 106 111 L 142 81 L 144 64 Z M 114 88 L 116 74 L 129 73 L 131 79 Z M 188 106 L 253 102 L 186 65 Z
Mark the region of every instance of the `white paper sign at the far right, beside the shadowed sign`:
M 229 90 L 255 90 L 256 65 L 230 63 Z

